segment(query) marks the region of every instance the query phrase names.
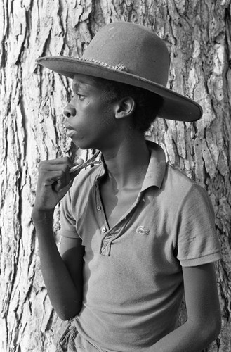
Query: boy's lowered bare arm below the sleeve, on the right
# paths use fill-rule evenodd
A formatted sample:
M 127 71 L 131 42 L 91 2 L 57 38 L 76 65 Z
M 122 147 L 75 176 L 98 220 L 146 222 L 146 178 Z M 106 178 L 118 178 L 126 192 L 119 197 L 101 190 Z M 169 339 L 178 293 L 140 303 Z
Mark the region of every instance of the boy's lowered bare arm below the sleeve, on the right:
M 187 322 L 154 344 L 153 352 L 199 352 L 218 337 L 220 304 L 213 263 L 184 267 Z

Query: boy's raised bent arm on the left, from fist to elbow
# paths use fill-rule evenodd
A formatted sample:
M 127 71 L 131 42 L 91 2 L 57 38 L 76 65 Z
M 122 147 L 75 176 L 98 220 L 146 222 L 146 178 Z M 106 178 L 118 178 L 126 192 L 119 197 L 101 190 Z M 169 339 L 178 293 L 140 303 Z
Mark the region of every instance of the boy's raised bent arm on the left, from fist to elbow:
M 82 275 L 73 281 L 53 236 L 53 211 L 70 188 L 70 167 L 72 163 L 69 158 L 41 163 L 37 196 L 32 211 L 45 286 L 51 304 L 62 320 L 68 320 L 79 313 L 82 295 Z M 74 251 L 82 268 L 84 249 L 80 241 L 77 241 Z

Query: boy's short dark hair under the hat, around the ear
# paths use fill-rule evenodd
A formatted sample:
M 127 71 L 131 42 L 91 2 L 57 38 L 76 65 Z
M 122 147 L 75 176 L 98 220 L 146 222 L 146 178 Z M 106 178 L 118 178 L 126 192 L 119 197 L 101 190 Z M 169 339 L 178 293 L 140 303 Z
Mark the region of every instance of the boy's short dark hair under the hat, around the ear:
M 102 83 L 103 97 L 108 101 L 116 101 L 124 96 L 131 96 L 134 99 L 136 107 L 133 113 L 133 127 L 144 134 L 157 117 L 163 104 L 163 98 L 147 89 L 130 84 L 103 78 L 98 80 Z

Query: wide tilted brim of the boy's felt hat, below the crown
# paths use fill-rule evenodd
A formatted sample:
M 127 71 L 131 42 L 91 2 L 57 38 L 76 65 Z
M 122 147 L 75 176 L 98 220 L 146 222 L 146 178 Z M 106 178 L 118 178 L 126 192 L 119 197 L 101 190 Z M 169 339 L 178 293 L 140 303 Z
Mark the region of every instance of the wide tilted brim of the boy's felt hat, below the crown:
M 74 78 L 75 73 L 81 73 L 82 75 L 89 75 L 130 84 L 135 87 L 147 89 L 155 94 L 159 94 L 164 99 L 163 106 L 158 113 L 160 118 L 194 122 L 202 117 L 202 107 L 195 101 L 173 92 L 171 89 L 160 84 L 131 73 L 84 61 L 81 60 L 81 58 L 69 58 L 65 56 L 44 56 L 38 58 L 37 63 L 59 73 L 60 75 L 72 79 Z

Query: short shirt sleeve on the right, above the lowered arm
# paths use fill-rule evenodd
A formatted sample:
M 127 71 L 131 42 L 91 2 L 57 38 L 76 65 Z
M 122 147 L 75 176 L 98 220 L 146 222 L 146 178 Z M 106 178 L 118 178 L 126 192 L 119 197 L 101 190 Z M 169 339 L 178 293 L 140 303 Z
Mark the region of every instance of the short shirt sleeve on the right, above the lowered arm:
M 202 265 L 221 258 L 213 206 L 202 187 L 192 185 L 176 221 L 177 258 L 182 266 Z

